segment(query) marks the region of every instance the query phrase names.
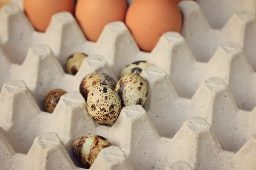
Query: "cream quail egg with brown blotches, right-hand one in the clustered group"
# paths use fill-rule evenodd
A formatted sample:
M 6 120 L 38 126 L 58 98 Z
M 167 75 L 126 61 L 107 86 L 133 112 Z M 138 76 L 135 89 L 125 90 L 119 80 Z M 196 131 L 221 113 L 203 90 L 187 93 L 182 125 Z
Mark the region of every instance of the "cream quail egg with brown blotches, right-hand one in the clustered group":
M 138 74 L 127 74 L 116 84 L 122 107 L 144 105 L 148 96 L 148 83 Z

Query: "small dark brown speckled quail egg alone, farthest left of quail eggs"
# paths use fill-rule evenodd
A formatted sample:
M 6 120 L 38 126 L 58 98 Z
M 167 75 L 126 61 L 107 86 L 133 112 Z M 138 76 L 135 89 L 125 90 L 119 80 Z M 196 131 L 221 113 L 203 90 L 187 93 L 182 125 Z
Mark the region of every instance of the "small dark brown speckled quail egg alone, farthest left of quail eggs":
M 64 91 L 59 88 L 55 88 L 49 91 L 44 97 L 44 110 L 49 113 L 52 113 L 56 108 L 61 96 L 63 96 L 66 93 L 67 91 Z

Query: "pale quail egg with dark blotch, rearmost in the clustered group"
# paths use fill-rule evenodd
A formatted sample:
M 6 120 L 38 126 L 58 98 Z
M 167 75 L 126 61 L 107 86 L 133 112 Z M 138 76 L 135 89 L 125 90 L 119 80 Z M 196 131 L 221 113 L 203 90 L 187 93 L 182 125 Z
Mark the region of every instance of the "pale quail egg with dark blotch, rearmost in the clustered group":
M 131 73 L 140 75 L 143 70 L 147 69 L 151 65 L 152 64 L 147 61 L 133 62 L 122 69 L 121 77 L 123 77 L 126 74 L 131 74 Z

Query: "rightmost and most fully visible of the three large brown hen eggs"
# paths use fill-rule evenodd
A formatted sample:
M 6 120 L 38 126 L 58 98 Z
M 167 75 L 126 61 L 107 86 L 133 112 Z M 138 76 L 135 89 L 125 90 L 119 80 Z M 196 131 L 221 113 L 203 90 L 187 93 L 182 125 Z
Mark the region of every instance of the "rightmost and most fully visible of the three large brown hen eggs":
M 125 24 L 140 49 L 150 52 L 165 32 L 181 31 L 182 14 L 172 0 L 135 0 L 128 8 Z

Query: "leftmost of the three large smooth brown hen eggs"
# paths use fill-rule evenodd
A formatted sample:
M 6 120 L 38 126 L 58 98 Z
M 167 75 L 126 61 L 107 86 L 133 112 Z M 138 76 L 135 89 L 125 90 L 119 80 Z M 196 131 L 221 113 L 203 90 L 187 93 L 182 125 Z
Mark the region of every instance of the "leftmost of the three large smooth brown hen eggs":
M 24 10 L 37 31 L 44 32 L 53 14 L 68 11 L 73 14 L 74 0 L 23 0 Z

